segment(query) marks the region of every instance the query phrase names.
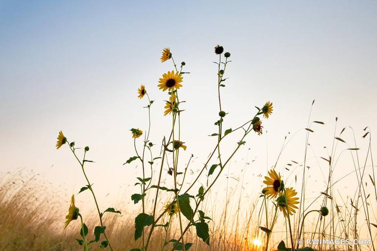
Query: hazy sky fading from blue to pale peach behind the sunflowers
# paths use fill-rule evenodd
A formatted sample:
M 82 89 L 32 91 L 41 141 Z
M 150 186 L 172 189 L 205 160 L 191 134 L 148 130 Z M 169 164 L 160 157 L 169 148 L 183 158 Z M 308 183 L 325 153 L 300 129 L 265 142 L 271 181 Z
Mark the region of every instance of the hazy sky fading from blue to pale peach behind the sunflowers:
M 250 148 L 248 160 L 257 157 L 249 174 L 264 174 L 283 137 L 300 129 L 284 158 L 303 160 L 313 99 L 312 120 L 326 124 L 315 126 L 310 143 L 316 155 L 328 156 L 323 146 L 331 146 L 336 116 L 337 132 L 352 126 L 360 141 L 364 127 L 377 127 L 376 13 L 376 1 L 0 0 L 0 171 L 33 169 L 77 192 L 85 183 L 75 160 L 66 146 L 54 147 L 62 130 L 76 145 L 90 146 L 88 158 L 96 162 L 88 173 L 106 188 L 102 196 L 132 186 L 140 169 L 122 163 L 134 156 L 129 129 L 147 128 L 141 84 L 155 100 L 152 142 L 160 143 L 171 123 L 163 116 L 166 93 L 157 88 L 173 69 L 171 61 L 160 62 L 164 47 L 191 72 L 180 91 L 187 101 L 182 163 L 194 154 L 192 168 L 199 169 L 215 140 L 208 135 L 218 116 L 216 44 L 233 61 L 223 89 L 226 127 L 253 116 L 254 106 L 274 103 L 263 122 L 268 134 L 250 136 L 236 156 L 242 162 Z M 237 139 L 224 149 L 234 149 Z M 342 168 L 344 174 L 353 167 Z M 320 167 L 313 176 L 322 179 Z

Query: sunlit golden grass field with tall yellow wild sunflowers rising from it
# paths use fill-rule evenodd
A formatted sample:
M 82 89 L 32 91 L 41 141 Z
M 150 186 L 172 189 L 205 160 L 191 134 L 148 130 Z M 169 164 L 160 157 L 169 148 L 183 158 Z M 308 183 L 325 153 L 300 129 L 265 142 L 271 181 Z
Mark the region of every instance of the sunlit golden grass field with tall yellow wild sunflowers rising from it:
M 250 169 L 254 157 L 249 153 L 239 157 L 236 152 L 245 147 L 246 136 L 265 133 L 267 128 L 263 128 L 262 122 L 274 115 L 273 103 L 256 107 L 256 115 L 246 117 L 247 122 L 233 130 L 223 128 L 227 114 L 223 107 L 227 101 L 221 99 L 221 91 L 227 83 L 225 69 L 231 54 L 223 53 L 222 46 L 216 46 L 214 52 L 218 60 L 214 62 L 218 66 L 214 79 L 217 78 L 219 102 L 214 125 L 218 131 L 211 135 L 216 142 L 207 160 L 195 163 L 193 170 L 192 157 L 179 159 L 186 145 L 180 138 L 185 102 L 179 100 L 178 91 L 184 91 L 182 79 L 188 72 L 184 70 L 186 64 L 177 66 L 170 50 L 165 48 L 161 61 L 171 63 L 175 73 L 164 73 L 159 88 L 167 94 L 165 115 L 171 118 L 172 127 L 162 144 L 149 141 L 153 100 L 149 99 L 148 89 L 141 86 L 137 93 L 147 108 L 144 111 L 149 128 L 130 130 L 135 153 L 128 154 L 125 165 L 139 163 L 140 177 L 126 182 L 135 183 L 141 193 L 126 190 L 112 205 L 115 209 L 105 210 L 107 207 L 98 200 L 96 188 L 90 182 L 94 174 L 85 169 L 91 164 L 86 158 L 89 147 L 78 147 L 79 143 L 60 132 L 56 148 L 71 151 L 72 158 L 77 160 L 77 173 L 86 182 L 80 196 L 85 195 L 87 200 L 71 201 L 70 205 L 67 198 L 71 195 L 27 169 L 2 174 L 0 251 L 375 251 L 377 174 L 369 128 L 346 130 L 337 125 L 335 118 L 330 121 L 335 127 L 326 148 L 328 155 L 316 156 L 311 153 L 310 139 L 320 133 L 325 123 L 309 115 L 307 127 L 300 129 L 304 137 L 299 139 L 303 145 L 305 142 L 302 153 L 289 153 L 290 159 L 280 160 L 286 145 L 296 137 L 288 134 L 274 164 L 268 169 Z M 311 107 L 313 104 L 314 101 Z M 233 141 L 228 143 L 228 138 Z M 348 142 L 349 138 L 353 138 L 352 142 Z M 359 147 L 360 141 L 363 147 Z M 225 144 L 235 146 L 232 151 L 224 151 Z M 312 176 L 311 168 L 319 161 L 324 166 L 323 177 Z M 63 230 L 65 221 L 67 228 Z M 299 240 L 307 239 L 367 239 L 370 243 L 298 245 Z

